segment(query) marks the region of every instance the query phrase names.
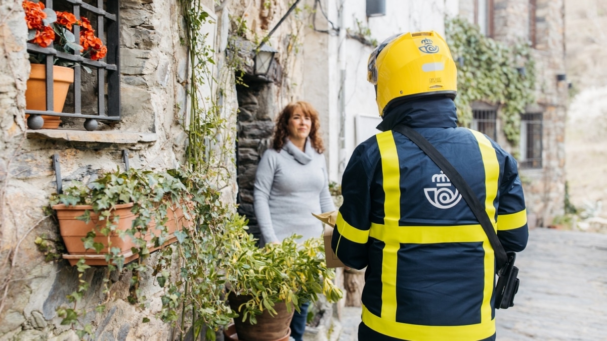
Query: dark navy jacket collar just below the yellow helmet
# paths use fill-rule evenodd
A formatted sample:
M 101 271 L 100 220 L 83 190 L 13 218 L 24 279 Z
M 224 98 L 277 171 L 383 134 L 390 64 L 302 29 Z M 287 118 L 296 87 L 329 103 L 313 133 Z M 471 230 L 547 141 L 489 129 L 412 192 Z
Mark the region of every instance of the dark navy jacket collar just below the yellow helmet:
M 447 97 L 420 98 L 399 104 L 388 110 L 377 129 L 385 132 L 398 124 L 412 128 L 457 127 L 455 103 Z

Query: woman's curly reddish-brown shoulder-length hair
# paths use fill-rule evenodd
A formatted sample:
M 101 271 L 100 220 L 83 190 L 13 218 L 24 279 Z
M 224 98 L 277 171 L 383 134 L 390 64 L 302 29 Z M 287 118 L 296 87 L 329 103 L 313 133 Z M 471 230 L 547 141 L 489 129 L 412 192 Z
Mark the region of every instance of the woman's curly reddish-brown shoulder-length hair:
M 310 120 L 312 121 L 310 127 L 310 135 L 308 135 L 312 147 L 316 149 L 319 154 L 324 152 L 325 147 L 322 143 L 322 137 L 320 137 L 320 121 L 318 118 L 318 112 L 316 111 L 316 109 L 314 109 L 312 104 L 306 101 L 292 102 L 287 104 L 287 106 L 282 109 L 282 112 L 280 112 L 280 114 L 276 118 L 272 149 L 276 150 L 277 152 L 280 152 L 282 146 L 285 145 L 285 139 L 287 139 L 287 137 L 289 136 L 289 130 L 287 128 L 289 124 L 289 119 L 297 108 L 301 109 L 304 116 L 310 117 Z

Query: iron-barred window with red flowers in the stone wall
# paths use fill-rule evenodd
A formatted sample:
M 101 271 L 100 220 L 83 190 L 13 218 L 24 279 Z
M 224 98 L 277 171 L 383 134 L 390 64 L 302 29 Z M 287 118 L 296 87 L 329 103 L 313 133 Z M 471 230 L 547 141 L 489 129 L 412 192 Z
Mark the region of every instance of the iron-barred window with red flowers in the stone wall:
M 64 128 L 81 129 L 84 126 L 87 130 L 97 129 L 98 120 L 120 120 L 118 1 L 44 0 L 42 2 L 48 10 L 72 13 L 80 22 L 80 25 L 70 25 L 71 30 L 66 32 L 67 35 L 73 33 L 72 39 L 76 46 L 88 46 L 87 34 L 94 33 L 94 36 L 100 38 L 107 47 L 107 54 L 100 58 L 100 54 L 95 55 L 94 52 L 90 52 L 92 50 L 87 52 L 84 49 L 81 52 L 77 47 L 66 50 L 63 47 L 65 45 L 57 38 L 47 47 L 34 44 L 35 41 L 28 42 L 30 61 L 44 65 L 44 75 L 46 75 L 46 86 L 42 87 L 46 89 L 46 105 L 37 110 L 29 109 L 28 106 L 25 110 L 29 115 L 27 120 L 29 128 L 40 129 L 45 117 L 49 120 L 61 118 Z M 59 20 L 56 24 L 59 24 Z M 29 38 L 32 38 L 31 32 Z M 100 42 L 95 40 L 92 44 L 100 44 Z M 55 106 L 53 98 L 53 93 L 58 89 L 58 86 L 53 86 L 53 66 L 69 66 L 73 69 L 73 84 L 70 85 L 66 103 L 60 111 L 57 109 L 58 106 Z M 27 96 L 26 93 L 26 101 Z

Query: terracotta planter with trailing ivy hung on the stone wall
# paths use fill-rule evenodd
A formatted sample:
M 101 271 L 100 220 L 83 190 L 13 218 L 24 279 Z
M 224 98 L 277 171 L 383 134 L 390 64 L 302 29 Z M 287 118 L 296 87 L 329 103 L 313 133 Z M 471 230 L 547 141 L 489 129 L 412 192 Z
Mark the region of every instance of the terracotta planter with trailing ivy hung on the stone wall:
M 59 231 L 75 265 L 121 266 L 177 240 L 193 225 L 188 191 L 166 172 L 128 170 L 76 182 L 52 198 Z

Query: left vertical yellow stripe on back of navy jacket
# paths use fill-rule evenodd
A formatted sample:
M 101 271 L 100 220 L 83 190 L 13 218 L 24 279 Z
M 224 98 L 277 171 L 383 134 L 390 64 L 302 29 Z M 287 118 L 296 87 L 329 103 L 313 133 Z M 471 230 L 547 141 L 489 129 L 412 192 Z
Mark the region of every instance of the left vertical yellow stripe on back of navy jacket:
M 401 167 L 396 143 L 392 131 L 378 133 L 376 137 L 384 183 L 384 224 L 398 226 L 398 221 L 401 220 Z M 381 316 L 390 320 L 396 320 L 396 253 L 400 247 L 398 242 L 387 242 L 382 251 Z

